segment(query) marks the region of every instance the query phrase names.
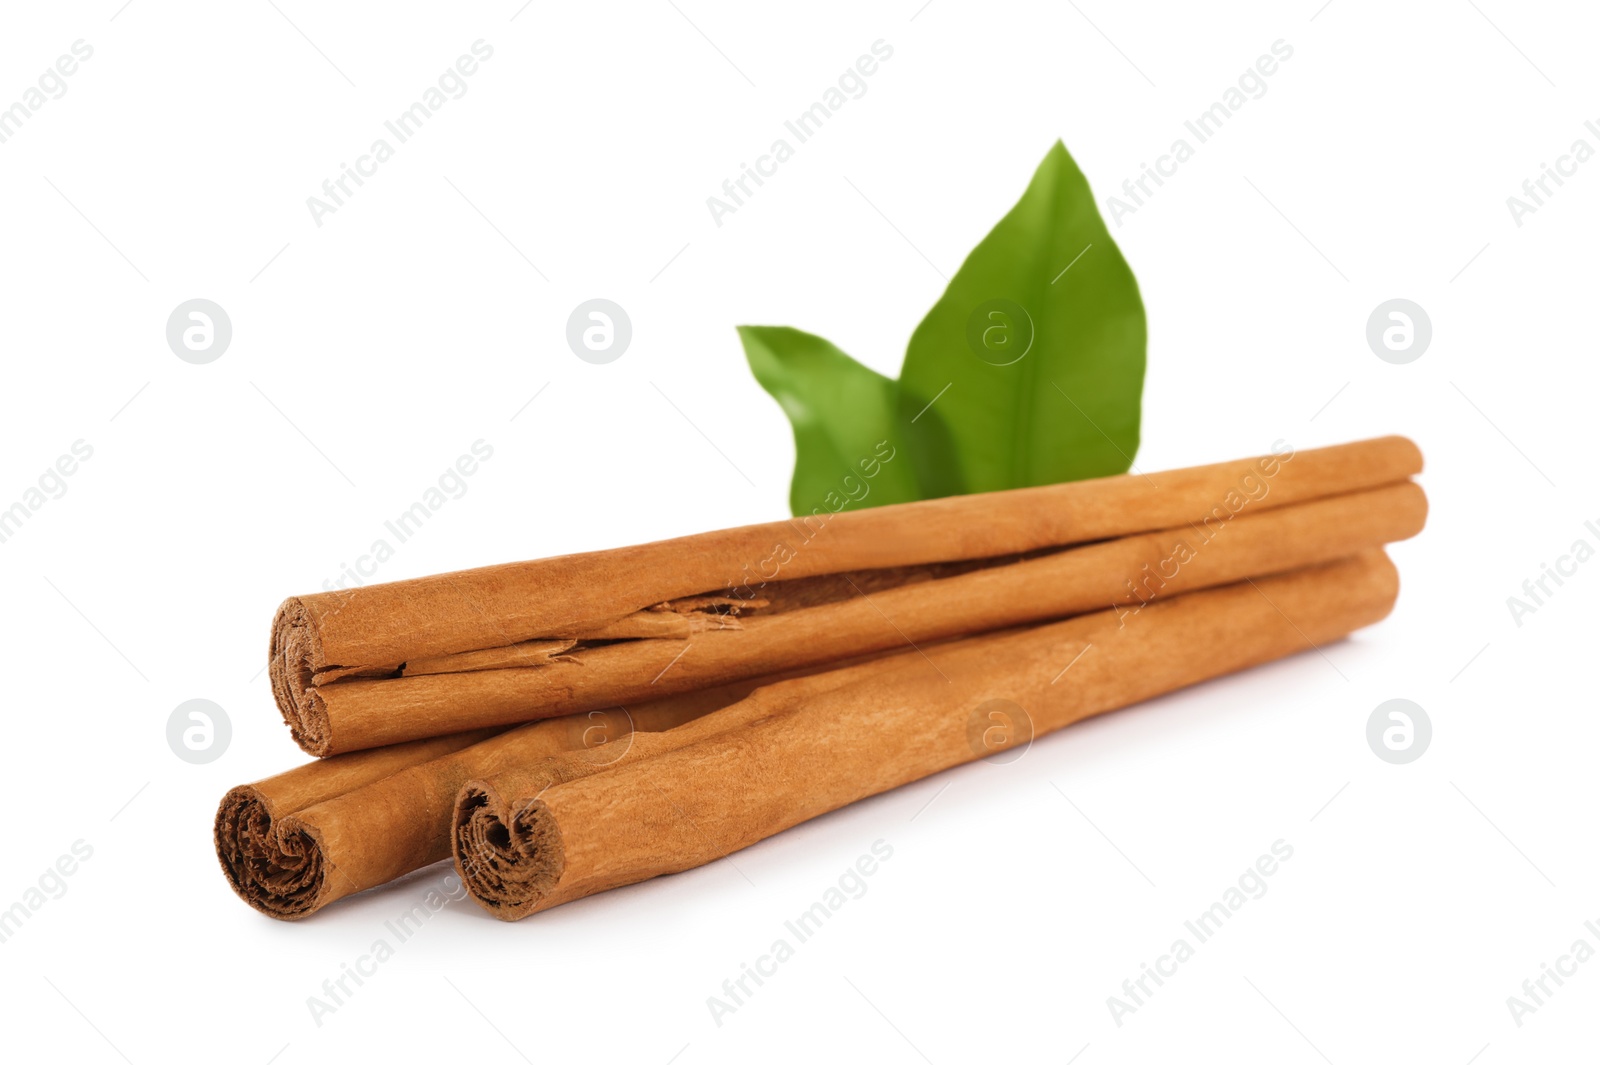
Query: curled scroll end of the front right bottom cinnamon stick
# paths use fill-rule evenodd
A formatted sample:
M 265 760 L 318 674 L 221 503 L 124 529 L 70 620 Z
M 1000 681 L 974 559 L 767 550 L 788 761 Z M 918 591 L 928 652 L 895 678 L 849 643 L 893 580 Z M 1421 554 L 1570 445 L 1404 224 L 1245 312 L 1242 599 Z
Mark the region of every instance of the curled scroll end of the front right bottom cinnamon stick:
M 450 851 L 467 891 L 502 921 L 542 910 L 566 868 L 562 832 L 544 803 L 518 800 L 510 809 L 486 780 L 456 793 Z

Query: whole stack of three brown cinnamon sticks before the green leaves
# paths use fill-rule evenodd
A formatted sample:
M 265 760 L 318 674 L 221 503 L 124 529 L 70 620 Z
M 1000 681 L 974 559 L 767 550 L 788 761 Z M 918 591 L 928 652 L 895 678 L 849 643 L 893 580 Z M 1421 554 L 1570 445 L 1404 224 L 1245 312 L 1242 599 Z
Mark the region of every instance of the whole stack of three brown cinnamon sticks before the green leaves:
M 269 670 L 318 758 L 230 790 L 218 857 L 283 919 L 446 857 L 504 919 L 693 868 L 1382 619 L 1421 469 L 1278 445 L 296 596 Z

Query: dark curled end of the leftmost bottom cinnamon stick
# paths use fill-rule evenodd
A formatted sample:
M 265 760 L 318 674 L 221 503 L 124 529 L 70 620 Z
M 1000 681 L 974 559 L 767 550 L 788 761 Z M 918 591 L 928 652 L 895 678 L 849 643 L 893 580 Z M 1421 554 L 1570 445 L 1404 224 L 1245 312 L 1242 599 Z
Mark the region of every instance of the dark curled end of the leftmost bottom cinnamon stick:
M 216 808 L 216 857 L 234 892 L 280 921 L 298 921 L 326 902 L 326 872 L 315 833 L 293 817 L 272 819 L 254 787 L 237 787 Z

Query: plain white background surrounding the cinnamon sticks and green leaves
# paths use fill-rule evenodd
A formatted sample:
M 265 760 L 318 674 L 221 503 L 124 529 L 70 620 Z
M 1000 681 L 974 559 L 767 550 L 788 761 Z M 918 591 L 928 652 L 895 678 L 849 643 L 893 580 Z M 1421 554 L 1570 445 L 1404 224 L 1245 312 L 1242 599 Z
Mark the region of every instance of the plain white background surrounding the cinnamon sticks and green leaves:
M 0 544 L 0 908 L 93 846 L 0 943 L 5 1057 L 1594 1052 L 1600 961 L 1520 1028 L 1506 1006 L 1578 937 L 1600 947 L 1600 561 L 1520 627 L 1506 604 L 1600 545 L 1600 162 L 1520 227 L 1506 206 L 1576 138 L 1600 147 L 1592 10 L 518 2 L 6 5 L 0 104 L 72 42 L 94 54 L 0 144 L 0 504 L 75 440 L 94 454 Z M 467 94 L 317 227 L 306 198 L 478 38 Z M 706 197 L 880 38 L 866 96 L 717 227 Z M 226 888 L 216 800 L 301 760 L 261 672 L 275 604 L 480 438 L 493 459 L 381 579 L 784 515 L 789 429 L 734 325 L 896 373 L 1056 138 L 1104 200 L 1280 38 L 1266 96 L 1114 229 L 1150 320 L 1138 461 L 1414 437 L 1432 517 L 1394 548 L 1394 616 L 736 865 L 512 926 L 454 903 L 314 1023 L 307 996 L 446 870 L 301 924 Z M 597 296 L 634 321 L 608 366 L 563 339 Z M 1363 336 L 1397 296 L 1434 323 L 1405 366 Z M 205 366 L 163 333 L 192 297 L 234 323 Z M 165 740 L 194 697 L 234 726 L 205 766 Z M 1366 747 L 1390 697 L 1434 721 L 1408 766 Z M 1270 891 L 1117 1027 L 1106 998 L 1280 838 Z M 707 996 L 875 840 L 894 856 L 870 891 L 715 1025 Z

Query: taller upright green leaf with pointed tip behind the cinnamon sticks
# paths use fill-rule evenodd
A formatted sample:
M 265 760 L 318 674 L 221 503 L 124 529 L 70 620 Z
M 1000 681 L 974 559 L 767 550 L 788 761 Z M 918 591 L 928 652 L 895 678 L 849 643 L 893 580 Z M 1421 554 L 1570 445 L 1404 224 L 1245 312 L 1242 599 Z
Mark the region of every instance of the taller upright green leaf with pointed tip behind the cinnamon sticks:
M 1133 270 L 1058 141 L 907 345 L 899 409 L 923 494 L 1125 473 L 1144 342 Z

